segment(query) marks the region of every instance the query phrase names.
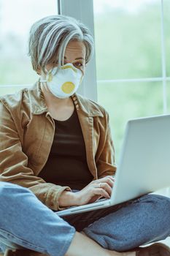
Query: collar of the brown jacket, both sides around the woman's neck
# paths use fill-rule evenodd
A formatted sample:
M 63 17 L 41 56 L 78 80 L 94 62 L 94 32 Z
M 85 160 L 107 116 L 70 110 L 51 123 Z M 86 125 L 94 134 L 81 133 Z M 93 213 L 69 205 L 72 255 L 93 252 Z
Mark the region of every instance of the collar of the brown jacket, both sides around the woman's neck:
M 34 86 L 28 90 L 28 94 L 31 103 L 31 113 L 34 115 L 47 113 L 47 105 L 45 103 L 45 97 L 42 93 L 39 81 L 37 81 Z M 82 112 L 85 113 L 85 116 L 104 116 L 96 102 L 86 99 L 80 94 L 74 94 L 72 99 L 77 110 L 82 110 Z

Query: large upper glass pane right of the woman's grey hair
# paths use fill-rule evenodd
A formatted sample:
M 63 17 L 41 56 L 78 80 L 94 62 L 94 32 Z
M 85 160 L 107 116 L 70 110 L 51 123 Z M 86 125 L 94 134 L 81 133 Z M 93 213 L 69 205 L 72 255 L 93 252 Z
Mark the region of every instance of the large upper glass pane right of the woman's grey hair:
M 98 80 L 161 76 L 161 1 L 93 3 Z

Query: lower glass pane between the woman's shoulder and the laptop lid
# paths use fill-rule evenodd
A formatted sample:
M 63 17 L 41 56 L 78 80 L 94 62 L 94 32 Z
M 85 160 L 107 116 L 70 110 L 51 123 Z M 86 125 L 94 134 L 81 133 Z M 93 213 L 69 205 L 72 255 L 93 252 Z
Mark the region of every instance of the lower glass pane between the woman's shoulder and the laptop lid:
M 98 102 L 109 112 L 116 161 L 128 119 L 163 113 L 162 83 L 98 83 Z

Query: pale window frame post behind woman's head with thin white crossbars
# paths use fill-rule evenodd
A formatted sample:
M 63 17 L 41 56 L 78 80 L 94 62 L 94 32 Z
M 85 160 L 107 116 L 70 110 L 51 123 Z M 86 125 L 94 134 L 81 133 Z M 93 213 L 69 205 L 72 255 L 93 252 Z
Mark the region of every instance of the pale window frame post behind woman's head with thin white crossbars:
M 114 80 L 97 80 L 96 78 L 96 57 L 95 53 L 93 59 L 89 63 L 85 80 L 80 89 L 80 93 L 85 97 L 97 101 L 97 83 L 131 83 L 131 82 L 162 82 L 162 97 L 163 97 L 163 114 L 167 113 L 167 85 L 166 82 L 170 80 L 166 76 L 166 51 L 165 51 L 165 33 L 164 33 L 164 20 L 163 20 L 163 0 L 161 1 L 161 69 L 162 76 L 158 78 L 130 78 L 130 79 L 114 79 Z M 74 8 L 73 8 L 74 6 Z M 94 35 L 94 13 L 93 13 L 93 0 L 58 0 L 58 10 L 62 15 L 69 15 L 85 23 Z M 95 37 L 94 37 L 95 39 Z

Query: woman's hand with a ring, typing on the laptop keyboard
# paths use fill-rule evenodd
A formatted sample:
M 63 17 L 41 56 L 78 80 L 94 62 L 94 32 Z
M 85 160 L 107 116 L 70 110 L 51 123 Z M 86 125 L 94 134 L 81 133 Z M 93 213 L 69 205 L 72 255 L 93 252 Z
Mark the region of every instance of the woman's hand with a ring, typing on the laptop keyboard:
M 90 182 L 84 189 L 74 193 L 74 203 L 82 206 L 86 203 L 93 203 L 100 197 L 110 198 L 114 181 L 112 176 L 106 176 Z

